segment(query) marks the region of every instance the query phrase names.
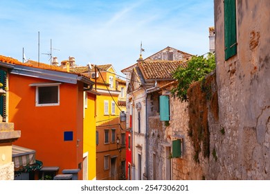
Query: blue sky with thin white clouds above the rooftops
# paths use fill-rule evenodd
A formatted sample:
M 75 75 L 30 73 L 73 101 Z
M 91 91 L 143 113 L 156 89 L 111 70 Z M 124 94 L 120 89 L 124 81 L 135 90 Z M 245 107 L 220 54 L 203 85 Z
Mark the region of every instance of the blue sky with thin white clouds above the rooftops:
M 209 51 L 213 0 L 0 0 L 0 55 L 48 63 L 112 64 L 117 73 L 167 46 L 193 55 Z M 39 32 L 39 46 L 38 46 Z

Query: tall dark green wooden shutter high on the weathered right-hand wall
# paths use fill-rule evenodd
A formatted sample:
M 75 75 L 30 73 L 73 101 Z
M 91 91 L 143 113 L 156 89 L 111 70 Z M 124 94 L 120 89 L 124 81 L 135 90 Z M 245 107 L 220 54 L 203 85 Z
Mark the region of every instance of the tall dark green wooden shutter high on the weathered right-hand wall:
M 224 0 L 225 60 L 237 53 L 235 0 Z

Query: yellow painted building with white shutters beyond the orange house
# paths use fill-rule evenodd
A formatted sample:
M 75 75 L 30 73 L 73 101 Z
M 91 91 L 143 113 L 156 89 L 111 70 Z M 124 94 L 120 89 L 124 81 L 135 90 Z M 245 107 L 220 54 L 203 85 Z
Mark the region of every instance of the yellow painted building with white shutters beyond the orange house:
M 85 93 L 84 102 L 84 159 L 85 164 L 88 161 L 88 179 L 123 179 L 125 80 L 116 78 L 111 64 L 75 67 L 71 71 L 82 73 L 95 82 L 93 89 Z

